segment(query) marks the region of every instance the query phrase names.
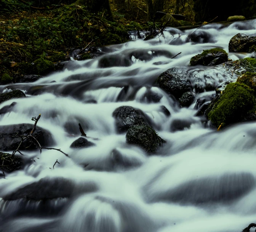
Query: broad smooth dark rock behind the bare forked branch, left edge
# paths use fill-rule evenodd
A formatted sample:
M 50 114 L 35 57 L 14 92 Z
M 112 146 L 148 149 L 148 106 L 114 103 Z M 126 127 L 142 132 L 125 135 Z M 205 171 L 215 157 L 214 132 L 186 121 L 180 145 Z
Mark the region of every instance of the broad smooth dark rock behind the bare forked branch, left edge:
M 0 126 L 0 148 L 1 150 L 16 150 L 19 146 L 21 138 L 14 138 L 18 133 L 20 136 L 27 136 L 33 128 L 33 124 L 15 124 Z M 43 147 L 51 146 L 54 144 L 53 137 L 48 130 L 37 126 L 33 136 Z M 22 142 L 19 150 L 33 150 L 37 149 L 38 145 L 34 144 L 30 139 Z

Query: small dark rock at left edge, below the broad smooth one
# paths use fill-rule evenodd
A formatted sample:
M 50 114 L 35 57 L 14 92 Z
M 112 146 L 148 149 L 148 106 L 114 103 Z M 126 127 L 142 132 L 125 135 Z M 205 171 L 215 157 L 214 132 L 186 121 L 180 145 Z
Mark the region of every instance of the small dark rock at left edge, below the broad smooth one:
M 1 169 L 4 171 L 16 171 L 21 168 L 22 159 L 17 155 L 12 156 L 11 154 L 0 152 Z

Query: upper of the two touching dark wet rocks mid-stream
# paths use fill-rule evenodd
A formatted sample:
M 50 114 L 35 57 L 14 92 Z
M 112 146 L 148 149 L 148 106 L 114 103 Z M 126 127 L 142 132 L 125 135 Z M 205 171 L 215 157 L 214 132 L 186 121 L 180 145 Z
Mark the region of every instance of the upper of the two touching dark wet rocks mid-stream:
M 141 125 L 146 126 L 144 118 L 131 106 L 120 106 L 113 112 L 115 125 L 118 133 L 126 132 L 131 126 Z

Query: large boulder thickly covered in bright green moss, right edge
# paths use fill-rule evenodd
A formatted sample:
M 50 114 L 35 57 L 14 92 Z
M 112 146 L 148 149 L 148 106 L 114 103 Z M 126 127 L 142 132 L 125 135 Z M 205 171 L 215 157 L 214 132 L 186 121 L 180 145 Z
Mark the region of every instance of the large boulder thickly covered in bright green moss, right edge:
M 214 126 L 239 122 L 255 106 L 254 91 L 242 83 L 230 83 L 215 103 L 208 117 Z

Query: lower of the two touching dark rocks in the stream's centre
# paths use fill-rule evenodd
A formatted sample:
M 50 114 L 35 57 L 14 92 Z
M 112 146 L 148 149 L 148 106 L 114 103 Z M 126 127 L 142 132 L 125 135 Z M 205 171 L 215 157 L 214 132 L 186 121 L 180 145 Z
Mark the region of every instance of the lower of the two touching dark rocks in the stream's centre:
M 131 126 L 126 133 L 126 142 L 142 147 L 147 153 L 153 154 L 165 142 L 149 126 Z

